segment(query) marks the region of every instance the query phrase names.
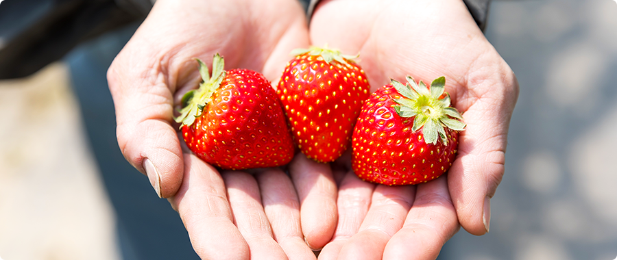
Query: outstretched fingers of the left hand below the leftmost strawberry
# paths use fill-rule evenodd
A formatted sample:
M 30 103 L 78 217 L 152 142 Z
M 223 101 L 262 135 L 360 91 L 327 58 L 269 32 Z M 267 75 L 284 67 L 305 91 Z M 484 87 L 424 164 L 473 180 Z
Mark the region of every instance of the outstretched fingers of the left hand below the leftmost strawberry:
M 182 186 L 169 203 L 199 257 L 315 259 L 302 237 L 298 196 L 280 168 L 219 174 L 188 154 L 184 164 Z

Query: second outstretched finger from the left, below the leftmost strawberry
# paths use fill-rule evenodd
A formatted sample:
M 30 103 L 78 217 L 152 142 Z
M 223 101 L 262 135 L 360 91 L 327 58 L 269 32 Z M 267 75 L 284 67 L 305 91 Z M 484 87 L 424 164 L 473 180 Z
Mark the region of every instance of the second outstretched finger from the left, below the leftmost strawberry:
M 259 187 L 246 172 L 222 172 L 236 226 L 250 248 L 250 259 L 287 259 L 274 241 L 261 205 Z

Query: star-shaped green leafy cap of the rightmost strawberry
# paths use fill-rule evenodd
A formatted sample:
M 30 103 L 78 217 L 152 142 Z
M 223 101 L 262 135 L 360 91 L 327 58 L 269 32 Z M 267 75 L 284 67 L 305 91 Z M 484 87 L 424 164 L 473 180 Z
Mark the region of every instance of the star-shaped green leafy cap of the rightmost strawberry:
M 461 122 L 463 116 L 456 108 L 450 107 L 450 94 L 445 92 L 444 87 L 446 77 L 435 79 L 430 87 L 422 81 L 416 83 L 409 76 L 405 85 L 394 79 L 391 79 L 391 84 L 403 96 L 402 99 L 394 99 L 399 104 L 394 109 L 401 117 L 415 117 L 412 131 L 422 128 L 426 144 L 436 144 L 438 139 L 448 144 L 444 127 L 455 131 L 465 129 L 465 123 Z

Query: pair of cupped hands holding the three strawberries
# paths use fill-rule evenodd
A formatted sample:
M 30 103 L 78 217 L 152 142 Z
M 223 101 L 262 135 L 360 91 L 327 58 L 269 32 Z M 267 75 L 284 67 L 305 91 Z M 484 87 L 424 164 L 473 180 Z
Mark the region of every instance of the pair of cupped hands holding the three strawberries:
M 459 222 L 487 231 L 483 205 L 503 175 L 518 84 L 460 0 L 322 1 L 310 34 L 295 0 L 216 2 L 158 0 L 108 72 L 121 151 L 169 198 L 200 257 L 314 259 L 308 243 L 325 246 L 320 259 L 434 259 Z M 289 176 L 219 173 L 189 155 L 172 116 L 199 82 L 194 57 L 209 64 L 221 53 L 226 69 L 259 71 L 276 86 L 289 52 L 308 47 L 309 36 L 361 53 L 373 90 L 390 77 L 446 76 L 468 124 L 447 178 L 373 185 L 348 171 L 348 155 L 330 168 L 300 154 Z

